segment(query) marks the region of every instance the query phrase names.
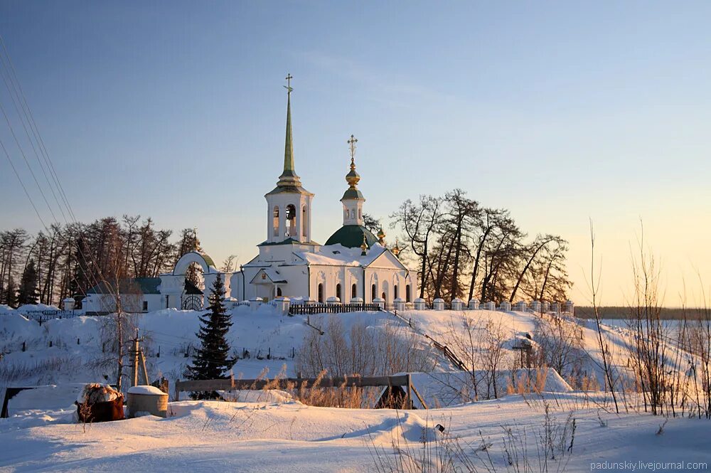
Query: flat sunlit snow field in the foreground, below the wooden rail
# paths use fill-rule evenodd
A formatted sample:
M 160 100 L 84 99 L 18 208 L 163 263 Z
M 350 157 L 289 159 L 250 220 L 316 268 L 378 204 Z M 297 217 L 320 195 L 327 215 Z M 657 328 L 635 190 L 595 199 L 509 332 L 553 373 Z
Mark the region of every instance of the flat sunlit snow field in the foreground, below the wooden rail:
M 518 462 L 527 460 L 533 467 L 527 471 L 541 471 L 546 404 L 553 430 L 561 432 L 572 415 L 565 452 L 556 450 L 555 460 L 548 456 L 547 471 L 623 471 L 595 467 L 604 462 L 634 462 L 637 470 L 652 470 L 638 462 L 668 467 L 658 465 L 656 471 L 711 466 L 708 422 L 670 419 L 657 435 L 663 418 L 614 415 L 581 393 L 567 393 L 413 411 L 314 408 L 295 401 L 181 401 L 170 403 L 172 417 L 166 419 L 107 422 L 86 431 L 73 423 L 71 413 L 36 413 L 0 421 L 0 471 L 375 472 L 397 461 L 394 442 L 402 455 L 419 457 L 423 437 L 443 442 L 446 436 L 457 439 L 477 471 L 492 471 L 486 467 L 491 464 L 493 471 L 515 471 L 506 461 L 506 442 L 512 439 L 519 445 Z M 434 428 L 437 424 L 444 432 Z M 506 435 L 508 429 L 513 437 Z M 705 465 L 694 469 L 689 463 Z

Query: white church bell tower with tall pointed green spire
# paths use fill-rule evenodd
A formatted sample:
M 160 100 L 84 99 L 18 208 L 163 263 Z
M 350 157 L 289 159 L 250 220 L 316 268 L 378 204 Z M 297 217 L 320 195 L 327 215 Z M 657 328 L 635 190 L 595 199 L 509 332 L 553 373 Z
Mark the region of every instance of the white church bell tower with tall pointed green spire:
M 264 195 L 267 199 L 267 242 L 292 240 L 311 242 L 311 201 L 314 194 L 301 187 L 294 170 L 292 140 L 292 75 L 287 75 L 287 136 L 284 142 L 284 169 L 277 187 Z

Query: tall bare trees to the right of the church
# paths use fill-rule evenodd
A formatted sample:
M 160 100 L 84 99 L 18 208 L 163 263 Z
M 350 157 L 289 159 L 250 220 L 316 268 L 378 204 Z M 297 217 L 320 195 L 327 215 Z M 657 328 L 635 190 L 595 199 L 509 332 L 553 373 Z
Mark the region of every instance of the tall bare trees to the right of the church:
M 488 208 L 454 189 L 408 199 L 392 215 L 401 257 L 417 265 L 419 297 L 480 301 L 565 300 L 567 241 L 530 237 L 503 208 Z

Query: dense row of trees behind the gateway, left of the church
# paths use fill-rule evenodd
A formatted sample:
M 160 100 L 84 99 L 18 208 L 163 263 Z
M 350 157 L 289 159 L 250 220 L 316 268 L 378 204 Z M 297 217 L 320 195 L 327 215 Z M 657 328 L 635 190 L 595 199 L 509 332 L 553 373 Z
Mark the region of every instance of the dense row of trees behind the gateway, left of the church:
M 31 235 L 22 228 L 0 231 L 0 304 L 57 305 L 86 294 L 99 282 L 156 277 L 199 247 L 192 228 L 173 238 L 140 216 L 100 218 L 92 223 L 52 225 Z M 197 282 L 196 269 L 188 279 Z

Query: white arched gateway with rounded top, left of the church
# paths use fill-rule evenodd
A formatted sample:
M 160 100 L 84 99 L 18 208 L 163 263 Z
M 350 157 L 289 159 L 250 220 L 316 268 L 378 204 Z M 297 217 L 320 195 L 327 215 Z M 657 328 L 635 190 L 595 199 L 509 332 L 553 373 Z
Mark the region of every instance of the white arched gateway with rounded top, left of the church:
M 192 287 L 189 282 L 186 282 L 185 273 L 188 267 L 196 263 L 203 270 L 203 278 L 205 287 L 202 294 L 199 289 Z M 220 272 L 215 268 L 213 259 L 205 253 L 191 251 L 181 256 L 176 262 L 172 272 L 166 272 L 161 275 L 161 297 L 163 307 L 166 309 L 201 309 L 207 304 L 210 294 L 210 287 L 215 282 L 215 277 Z M 229 285 L 229 280 L 225 281 Z M 229 294 L 229 286 L 227 287 Z

